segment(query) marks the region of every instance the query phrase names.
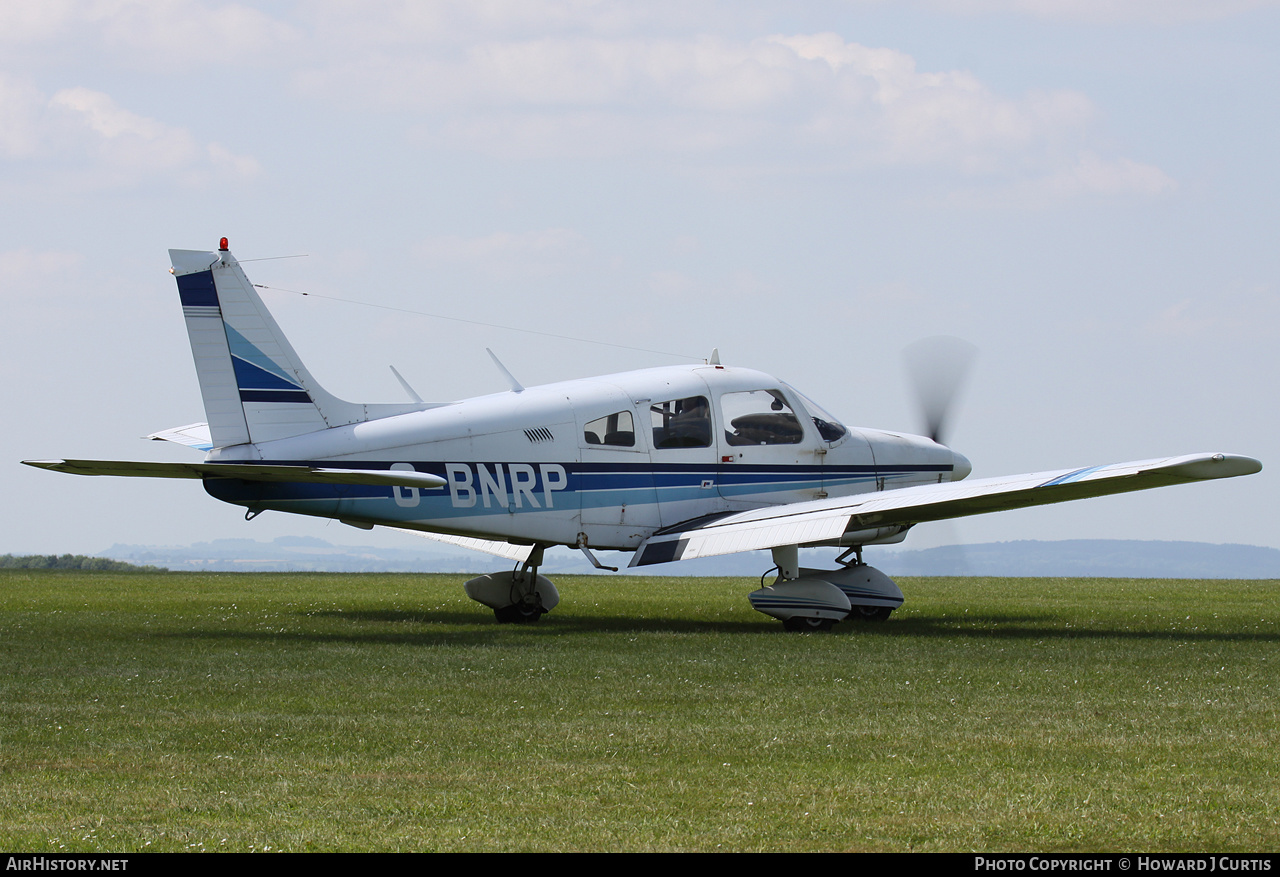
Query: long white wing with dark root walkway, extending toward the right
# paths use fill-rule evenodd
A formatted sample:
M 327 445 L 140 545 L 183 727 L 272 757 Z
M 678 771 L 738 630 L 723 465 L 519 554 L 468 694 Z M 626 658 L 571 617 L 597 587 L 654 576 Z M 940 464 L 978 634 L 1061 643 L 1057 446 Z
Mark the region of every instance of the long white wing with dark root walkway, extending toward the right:
M 1056 472 L 950 481 L 750 512 L 730 512 L 659 530 L 640 545 L 631 566 L 778 545 L 838 543 L 846 534 L 859 530 L 904 527 L 923 521 L 1252 475 L 1261 470 L 1262 463 L 1252 457 L 1201 453 Z

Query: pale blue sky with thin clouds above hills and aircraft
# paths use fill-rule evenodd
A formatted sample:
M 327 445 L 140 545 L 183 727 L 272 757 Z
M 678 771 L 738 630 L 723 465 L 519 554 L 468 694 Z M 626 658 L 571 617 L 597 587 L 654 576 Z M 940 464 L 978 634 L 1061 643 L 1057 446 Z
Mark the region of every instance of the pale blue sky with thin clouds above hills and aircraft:
M 205 419 L 165 251 L 221 236 L 343 398 L 718 348 L 919 431 L 902 351 L 947 334 L 974 478 L 1267 469 L 906 548 L 1280 548 L 1276 46 L 1280 0 L 0 4 L 0 552 L 416 544 L 18 463 L 193 458 L 141 437 Z

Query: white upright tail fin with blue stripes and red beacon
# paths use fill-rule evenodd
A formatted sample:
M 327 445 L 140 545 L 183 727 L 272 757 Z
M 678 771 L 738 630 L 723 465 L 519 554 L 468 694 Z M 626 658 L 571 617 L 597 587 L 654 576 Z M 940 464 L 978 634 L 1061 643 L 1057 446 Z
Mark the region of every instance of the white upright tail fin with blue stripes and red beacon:
M 357 405 L 324 390 L 227 251 L 170 250 L 214 448 L 315 433 L 428 405 Z

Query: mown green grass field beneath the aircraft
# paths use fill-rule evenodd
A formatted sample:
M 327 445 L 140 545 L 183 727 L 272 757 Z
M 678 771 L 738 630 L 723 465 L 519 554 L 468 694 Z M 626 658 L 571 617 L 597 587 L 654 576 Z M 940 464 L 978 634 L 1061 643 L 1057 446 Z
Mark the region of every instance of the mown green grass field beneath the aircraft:
M 0 849 L 1276 850 L 1280 583 L 5 572 Z

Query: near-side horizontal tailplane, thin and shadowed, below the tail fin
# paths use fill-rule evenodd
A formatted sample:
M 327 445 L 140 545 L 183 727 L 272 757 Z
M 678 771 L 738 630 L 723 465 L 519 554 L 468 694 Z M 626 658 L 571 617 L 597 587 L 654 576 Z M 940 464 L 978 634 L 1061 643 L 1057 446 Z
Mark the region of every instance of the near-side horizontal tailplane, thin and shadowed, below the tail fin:
M 319 484 L 376 484 L 403 488 L 448 487 L 439 475 L 389 469 L 330 469 L 328 466 L 259 466 L 256 463 L 147 463 L 129 460 L 23 460 L 28 466 L 72 475 L 128 478 L 237 478 L 242 481 L 306 481 Z

